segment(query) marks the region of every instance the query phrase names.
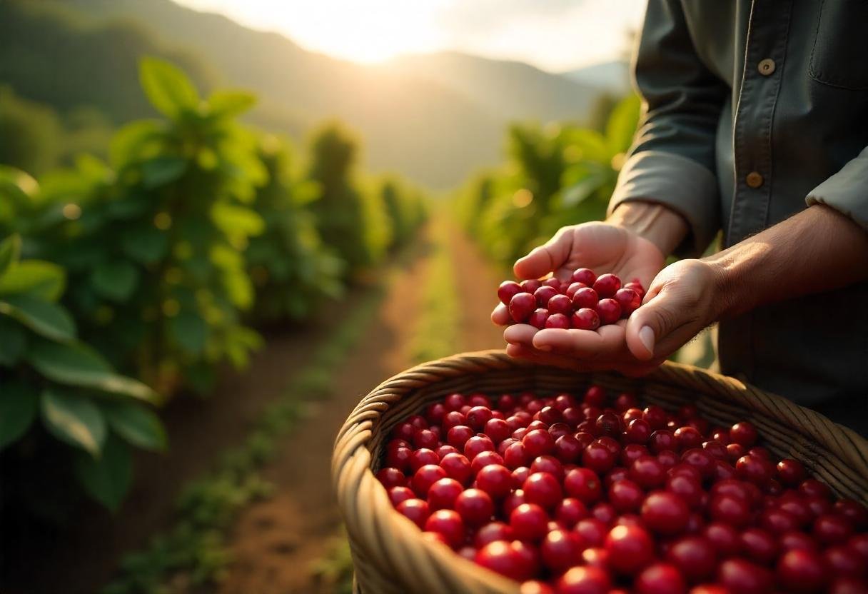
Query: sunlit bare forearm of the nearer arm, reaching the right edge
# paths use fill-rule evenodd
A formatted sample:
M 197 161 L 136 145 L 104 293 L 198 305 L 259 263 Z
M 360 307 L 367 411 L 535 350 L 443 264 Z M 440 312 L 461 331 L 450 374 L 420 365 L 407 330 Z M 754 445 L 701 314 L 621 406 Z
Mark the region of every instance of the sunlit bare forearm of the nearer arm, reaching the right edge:
M 717 272 L 718 318 L 868 280 L 868 233 L 812 206 L 706 259 Z

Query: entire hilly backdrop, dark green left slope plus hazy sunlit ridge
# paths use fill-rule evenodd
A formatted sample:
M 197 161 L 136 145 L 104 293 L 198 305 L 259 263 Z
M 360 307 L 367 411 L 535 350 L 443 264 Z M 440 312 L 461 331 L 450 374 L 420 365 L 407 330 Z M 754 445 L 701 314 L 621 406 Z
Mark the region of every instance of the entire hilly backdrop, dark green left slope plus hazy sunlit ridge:
M 0 4 L 0 83 L 62 114 L 95 108 L 112 123 L 148 115 L 135 95 L 142 54 L 174 60 L 205 89 L 253 89 L 260 102 L 248 121 L 274 131 L 305 135 L 339 117 L 363 135 L 368 166 L 434 188 L 497 162 L 506 122 L 584 122 L 599 93 L 526 64 L 456 53 L 362 66 L 170 0 Z

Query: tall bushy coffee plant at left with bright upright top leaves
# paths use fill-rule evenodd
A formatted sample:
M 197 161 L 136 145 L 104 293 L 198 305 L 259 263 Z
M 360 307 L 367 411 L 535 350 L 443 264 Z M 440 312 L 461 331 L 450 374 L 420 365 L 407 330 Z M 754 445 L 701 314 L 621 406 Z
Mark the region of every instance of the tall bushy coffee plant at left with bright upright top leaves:
M 162 120 L 133 122 L 110 162 L 82 157 L 43 178 L 32 250 L 68 270 L 82 335 L 118 366 L 171 392 L 204 390 L 213 366 L 244 366 L 260 337 L 243 250 L 265 223 L 257 139 L 235 122 L 241 92 L 202 100 L 174 66 L 145 59 L 141 83 Z

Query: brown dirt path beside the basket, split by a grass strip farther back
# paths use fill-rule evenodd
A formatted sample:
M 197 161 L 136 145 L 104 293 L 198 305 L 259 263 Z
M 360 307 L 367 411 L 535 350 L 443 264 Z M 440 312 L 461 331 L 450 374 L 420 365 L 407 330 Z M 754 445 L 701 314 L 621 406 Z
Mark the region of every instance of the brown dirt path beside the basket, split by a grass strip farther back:
M 491 300 L 483 298 L 494 294 L 496 274 L 470 241 L 453 231 L 455 281 L 463 296 L 456 350 L 500 347 L 502 333 L 488 319 Z M 407 345 L 427 264 L 415 261 L 398 274 L 371 332 L 340 372 L 338 395 L 323 403 L 315 422 L 280 446 L 277 461 L 264 472 L 276 494 L 242 512 L 230 536 L 234 562 L 220 594 L 320 592 L 310 568 L 327 552 L 340 521 L 330 485 L 332 440 L 361 396 L 411 365 Z

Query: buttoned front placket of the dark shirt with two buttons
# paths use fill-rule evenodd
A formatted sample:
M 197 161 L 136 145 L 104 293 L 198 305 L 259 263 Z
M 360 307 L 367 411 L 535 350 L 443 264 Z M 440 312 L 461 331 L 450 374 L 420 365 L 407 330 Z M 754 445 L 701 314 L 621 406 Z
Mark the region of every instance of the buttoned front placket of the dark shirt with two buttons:
M 772 132 L 786 58 L 792 0 L 755 0 L 733 126 L 735 194 L 726 242 L 766 228 L 772 198 Z

